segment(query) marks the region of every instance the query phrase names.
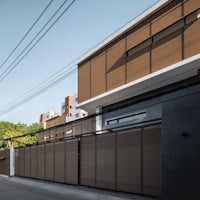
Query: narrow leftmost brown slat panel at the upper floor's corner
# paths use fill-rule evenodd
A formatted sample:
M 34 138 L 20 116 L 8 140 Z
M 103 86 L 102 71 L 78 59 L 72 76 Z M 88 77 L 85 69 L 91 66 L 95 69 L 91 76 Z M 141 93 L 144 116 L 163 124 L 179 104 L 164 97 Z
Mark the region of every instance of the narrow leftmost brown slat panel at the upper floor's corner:
M 78 68 L 78 101 L 90 98 L 90 62 Z

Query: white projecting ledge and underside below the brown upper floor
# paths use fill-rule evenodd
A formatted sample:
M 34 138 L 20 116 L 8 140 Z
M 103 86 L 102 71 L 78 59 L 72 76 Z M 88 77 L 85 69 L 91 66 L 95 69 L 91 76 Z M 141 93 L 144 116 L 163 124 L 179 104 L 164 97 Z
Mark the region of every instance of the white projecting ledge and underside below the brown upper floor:
M 84 101 L 78 104 L 78 107 L 86 111 L 95 111 L 97 107 L 111 105 L 196 76 L 198 69 L 200 69 L 200 54 Z

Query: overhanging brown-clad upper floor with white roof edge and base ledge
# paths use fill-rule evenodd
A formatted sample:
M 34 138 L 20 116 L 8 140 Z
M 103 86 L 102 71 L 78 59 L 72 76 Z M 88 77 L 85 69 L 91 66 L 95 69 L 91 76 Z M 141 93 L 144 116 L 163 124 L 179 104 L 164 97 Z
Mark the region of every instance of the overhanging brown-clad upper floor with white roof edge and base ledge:
M 199 0 L 161 0 L 78 63 L 78 106 L 92 111 L 196 75 L 199 30 Z

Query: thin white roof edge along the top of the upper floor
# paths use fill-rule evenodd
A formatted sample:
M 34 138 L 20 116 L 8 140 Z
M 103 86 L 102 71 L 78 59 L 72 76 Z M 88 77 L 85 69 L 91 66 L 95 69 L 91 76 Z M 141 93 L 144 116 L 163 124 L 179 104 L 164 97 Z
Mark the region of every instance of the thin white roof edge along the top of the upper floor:
M 146 17 L 148 17 L 149 15 L 153 14 L 153 12 L 155 12 L 157 9 L 159 9 L 164 4 L 166 4 L 167 2 L 170 2 L 170 1 L 171 0 L 160 0 L 158 3 L 154 4 L 152 7 L 150 7 L 145 12 L 143 12 L 141 15 L 139 15 L 138 17 L 136 17 L 135 19 L 133 19 L 131 22 L 129 22 L 128 24 L 126 24 L 125 26 L 123 26 L 123 28 L 121 28 L 120 30 L 116 31 L 112 36 L 108 37 L 102 43 L 100 43 L 95 48 L 93 48 L 91 51 L 89 51 L 88 53 L 86 53 L 85 55 L 83 55 L 83 57 L 81 57 L 77 61 L 78 65 L 80 63 L 82 63 L 84 60 L 86 60 L 88 57 L 90 57 L 91 55 L 93 55 L 94 53 L 96 53 L 97 51 L 99 51 L 101 48 L 103 48 L 104 46 L 106 46 L 109 42 L 113 41 L 119 35 L 123 34 L 129 28 L 133 27 L 134 25 L 136 25 L 137 23 L 139 23 L 141 20 L 144 20 Z

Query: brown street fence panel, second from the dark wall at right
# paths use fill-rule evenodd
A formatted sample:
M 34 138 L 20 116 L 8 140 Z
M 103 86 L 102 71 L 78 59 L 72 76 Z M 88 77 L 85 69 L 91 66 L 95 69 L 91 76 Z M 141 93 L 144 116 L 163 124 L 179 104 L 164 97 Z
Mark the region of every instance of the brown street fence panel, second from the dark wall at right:
M 141 128 L 116 135 L 116 189 L 141 193 Z

